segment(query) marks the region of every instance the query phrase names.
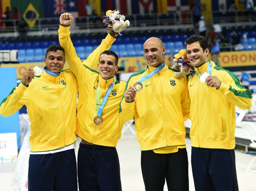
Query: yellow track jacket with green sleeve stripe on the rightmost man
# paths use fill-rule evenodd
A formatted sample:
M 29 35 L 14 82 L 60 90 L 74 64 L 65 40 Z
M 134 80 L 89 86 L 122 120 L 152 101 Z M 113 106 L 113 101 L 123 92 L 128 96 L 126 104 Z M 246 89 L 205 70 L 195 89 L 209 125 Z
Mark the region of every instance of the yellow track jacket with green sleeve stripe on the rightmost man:
M 252 95 L 230 71 L 212 63 L 212 76 L 221 81 L 219 88 L 202 83 L 194 75 L 188 78 L 191 99 L 191 144 L 193 147 L 234 149 L 236 108 L 250 109 Z M 207 72 L 208 61 L 199 66 L 199 73 Z M 197 67 L 195 67 L 197 70 Z

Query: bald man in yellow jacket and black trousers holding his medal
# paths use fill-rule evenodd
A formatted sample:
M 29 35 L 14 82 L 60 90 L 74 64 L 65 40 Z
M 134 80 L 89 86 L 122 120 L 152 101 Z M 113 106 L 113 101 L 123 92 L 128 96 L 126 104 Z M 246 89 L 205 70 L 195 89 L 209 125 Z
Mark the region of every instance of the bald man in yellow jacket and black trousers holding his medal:
M 156 37 L 144 43 L 148 66 L 129 77 L 121 103 L 125 121 L 135 116 L 146 191 L 189 190 L 184 120 L 190 99 L 185 76 L 165 65 L 165 47 Z M 133 87 L 134 86 L 134 87 Z M 139 91 L 139 92 L 138 92 Z

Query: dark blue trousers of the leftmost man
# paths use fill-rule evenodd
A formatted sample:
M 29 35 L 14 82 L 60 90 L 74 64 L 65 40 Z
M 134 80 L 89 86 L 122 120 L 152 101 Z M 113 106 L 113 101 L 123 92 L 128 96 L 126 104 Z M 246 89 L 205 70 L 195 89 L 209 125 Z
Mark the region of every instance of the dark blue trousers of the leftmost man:
M 77 191 L 75 149 L 30 154 L 29 191 Z

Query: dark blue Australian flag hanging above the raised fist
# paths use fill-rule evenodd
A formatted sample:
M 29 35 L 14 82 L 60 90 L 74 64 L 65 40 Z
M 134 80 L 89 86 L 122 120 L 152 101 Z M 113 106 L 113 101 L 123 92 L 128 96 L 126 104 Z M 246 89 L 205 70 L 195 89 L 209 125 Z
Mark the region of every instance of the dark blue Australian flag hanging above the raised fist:
M 44 17 L 60 17 L 62 13 L 77 15 L 77 0 L 44 1 Z

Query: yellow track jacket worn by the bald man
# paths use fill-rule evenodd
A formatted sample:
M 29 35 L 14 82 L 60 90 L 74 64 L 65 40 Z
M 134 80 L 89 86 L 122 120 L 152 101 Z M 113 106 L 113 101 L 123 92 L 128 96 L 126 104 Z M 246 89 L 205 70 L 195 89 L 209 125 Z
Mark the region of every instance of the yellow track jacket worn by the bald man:
M 130 76 L 126 89 L 146 76 L 155 67 Z M 137 92 L 131 103 L 122 100 L 125 121 L 135 116 L 135 130 L 141 150 L 166 146 L 185 145 L 184 120 L 189 117 L 190 98 L 185 76 L 175 78 L 175 71 L 168 66 L 142 82 L 143 90 Z

